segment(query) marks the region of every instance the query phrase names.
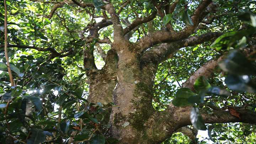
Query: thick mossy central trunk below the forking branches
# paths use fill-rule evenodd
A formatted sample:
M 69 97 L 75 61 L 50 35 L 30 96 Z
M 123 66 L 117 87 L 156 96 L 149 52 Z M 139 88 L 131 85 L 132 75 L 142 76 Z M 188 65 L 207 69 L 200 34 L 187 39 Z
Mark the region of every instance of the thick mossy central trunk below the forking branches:
M 143 66 L 135 51 L 136 47 L 127 42 L 122 43 L 122 50 L 118 52 L 118 82 L 113 92 L 113 102 L 117 106 L 112 108 L 108 135 L 121 144 L 160 143 L 167 138 L 166 133 L 170 136 L 175 131 L 175 127 L 159 129 L 167 121 L 165 118 L 159 120 L 164 114 L 152 106 L 157 64 Z

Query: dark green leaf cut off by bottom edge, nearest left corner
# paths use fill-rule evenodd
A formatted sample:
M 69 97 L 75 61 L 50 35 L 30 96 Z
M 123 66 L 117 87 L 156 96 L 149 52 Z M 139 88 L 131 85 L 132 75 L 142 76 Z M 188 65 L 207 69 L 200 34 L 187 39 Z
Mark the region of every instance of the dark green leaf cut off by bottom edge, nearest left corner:
M 27 144 L 39 144 L 46 139 L 46 135 L 42 129 L 31 129 L 30 138 L 27 140 Z

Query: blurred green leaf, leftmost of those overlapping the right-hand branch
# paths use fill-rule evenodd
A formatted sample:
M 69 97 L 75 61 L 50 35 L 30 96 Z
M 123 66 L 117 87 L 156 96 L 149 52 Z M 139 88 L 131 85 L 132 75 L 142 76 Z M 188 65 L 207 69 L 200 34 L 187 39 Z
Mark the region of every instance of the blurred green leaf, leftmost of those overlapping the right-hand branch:
M 174 97 L 174 100 L 172 100 L 172 104 L 175 106 L 189 106 L 194 105 L 194 103 L 191 103 L 188 101 L 188 98 L 196 96 L 194 92 L 192 92 L 188 88 L 181 88 L 177 90 L 176 95 Z

